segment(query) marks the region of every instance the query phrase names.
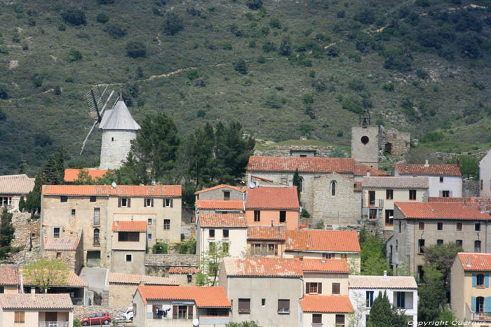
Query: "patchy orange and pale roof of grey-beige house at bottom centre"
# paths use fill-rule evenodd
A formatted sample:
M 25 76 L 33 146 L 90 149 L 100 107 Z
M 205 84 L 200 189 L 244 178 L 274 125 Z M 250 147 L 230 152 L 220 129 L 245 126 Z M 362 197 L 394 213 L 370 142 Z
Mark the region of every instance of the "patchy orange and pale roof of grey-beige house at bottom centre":
M 223 264 L 227 276 L 303 276 L 300 260 L 297 258 L 223 258 Z

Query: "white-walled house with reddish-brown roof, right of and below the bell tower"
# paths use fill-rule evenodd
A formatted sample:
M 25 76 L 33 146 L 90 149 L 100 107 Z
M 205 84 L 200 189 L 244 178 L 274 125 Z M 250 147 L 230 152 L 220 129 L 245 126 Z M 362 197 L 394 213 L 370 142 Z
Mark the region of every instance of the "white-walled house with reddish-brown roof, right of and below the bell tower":
M 398 163 L 394 176 L 427 177 L 430 197 L 462 197 L 462 174 L 458 165 Z

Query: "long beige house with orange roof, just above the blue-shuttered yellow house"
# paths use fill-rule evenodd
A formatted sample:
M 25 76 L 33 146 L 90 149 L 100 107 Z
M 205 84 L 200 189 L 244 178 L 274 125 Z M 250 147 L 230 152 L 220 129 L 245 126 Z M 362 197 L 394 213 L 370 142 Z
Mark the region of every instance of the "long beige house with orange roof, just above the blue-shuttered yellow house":
M 394 237 L 387 256 L 394 265 L 407 265 L 422 277 L 425 246 L 457 242 L 466 252 L 491 251 L 491 216 L 458 202 L 395 202 Z

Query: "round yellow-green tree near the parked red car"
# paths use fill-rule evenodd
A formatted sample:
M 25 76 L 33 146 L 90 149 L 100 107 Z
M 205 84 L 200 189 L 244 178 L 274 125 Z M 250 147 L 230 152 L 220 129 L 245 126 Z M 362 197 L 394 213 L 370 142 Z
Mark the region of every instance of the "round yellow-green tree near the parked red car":
M 46 293 L 51 286 L 67 284 L 69 270 L 62 260 L 41 258 L 25 265 L 22 274 L 29 284 L 39 287 L 42 293 Z

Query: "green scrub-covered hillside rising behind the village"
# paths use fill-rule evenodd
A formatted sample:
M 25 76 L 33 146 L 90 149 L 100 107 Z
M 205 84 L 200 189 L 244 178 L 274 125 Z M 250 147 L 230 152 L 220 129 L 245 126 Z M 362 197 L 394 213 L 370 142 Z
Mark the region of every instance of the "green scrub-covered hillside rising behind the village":
M 83 94 L 123 88 L 185 135 L 236 119 L 261 139 L 349 144 L 358 112 L 440 151 L 491 141 L 491 1 L 0 1 L 0 174 L 60 146 L 94 164 Z

